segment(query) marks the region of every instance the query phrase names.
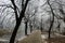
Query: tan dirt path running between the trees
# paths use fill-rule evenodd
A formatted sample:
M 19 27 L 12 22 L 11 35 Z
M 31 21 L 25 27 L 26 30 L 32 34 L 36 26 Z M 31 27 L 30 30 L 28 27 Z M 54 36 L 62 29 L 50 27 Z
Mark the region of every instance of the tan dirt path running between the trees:
M 37 30 L 17 43 L 41 43 L 41 32 Z

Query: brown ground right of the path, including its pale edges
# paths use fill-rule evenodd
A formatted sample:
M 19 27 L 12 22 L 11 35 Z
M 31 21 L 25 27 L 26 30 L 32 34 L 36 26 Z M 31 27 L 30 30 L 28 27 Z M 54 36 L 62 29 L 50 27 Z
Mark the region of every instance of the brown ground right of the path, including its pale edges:
M 65 35 L 54 34 L 51 39 L 43 39 L 42 43 L 65 43 Z

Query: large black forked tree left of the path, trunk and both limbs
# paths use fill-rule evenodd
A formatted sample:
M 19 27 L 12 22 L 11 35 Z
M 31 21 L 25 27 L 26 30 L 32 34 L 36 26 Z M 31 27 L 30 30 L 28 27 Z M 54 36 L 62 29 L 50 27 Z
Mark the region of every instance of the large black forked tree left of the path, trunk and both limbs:
M 13 4 L 13 6 L 14 6 L 16 25 L 15 25 L 15 28 L 14 28 L 14 30 L 13 30 L 12 37 L 11 37 L 11 39 L 10 39 L 10 43 L 14 43 L 15 35 L 16 35 L 16 32 L 17 32 L 17 30 L 18 30 L 18 28 L 20 28 L 22 18 L 25 16 L 25 11 L 26 11 L 28 1 L 29 1 L 29 0 L 26 0 L 26 3 L 25 3 L 25 5 L 24 5 L 24 9 L 22 9 L 22 11 L 21 11 L 21 13 L 20 13 L 20 17 L 18 17 L 17 10 L 16 10 L 17 6 L 15 5 L 14 0 L 11 0 L 12 4 Z

